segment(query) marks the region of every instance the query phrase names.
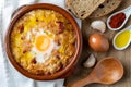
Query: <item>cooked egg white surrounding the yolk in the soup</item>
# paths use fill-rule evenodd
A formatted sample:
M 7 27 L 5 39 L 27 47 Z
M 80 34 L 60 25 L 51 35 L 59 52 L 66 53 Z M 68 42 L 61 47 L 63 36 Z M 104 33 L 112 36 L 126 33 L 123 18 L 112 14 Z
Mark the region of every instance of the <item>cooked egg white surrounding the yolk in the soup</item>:
M 35 32 L 35 33 L 36 33 L 36 37 L 41 36 L 41 35 L 47 36 L 47 34 L 44 32 L 44 29 L 39 29 L 38 32 Z M 53 41 L 53 37 L 49 37 L 49 40 L 50 40 L 50 46 L 45 51 L 39 51 L 35 47 L 35 44 L 33 45 L 31 53 L 36 58 L 37 63 L 44 63 L 46 60 L 48 60 L 50 58 L 50 54 L 53 49 L 59 49 L 59 46 L 57 46 L 57 44 Z

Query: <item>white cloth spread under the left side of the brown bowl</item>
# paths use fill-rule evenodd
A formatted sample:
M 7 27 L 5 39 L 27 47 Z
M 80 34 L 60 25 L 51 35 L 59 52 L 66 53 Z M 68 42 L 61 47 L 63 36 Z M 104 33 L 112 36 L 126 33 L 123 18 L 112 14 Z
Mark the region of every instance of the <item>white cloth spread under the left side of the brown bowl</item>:
M 5 0 L 0 0 L 5 1 Z M 3 50 L 3 37 L 7 30 L 7 27 L 11 20 L 12 12 L 23 4 L 35 3 L 35 2 L 45 2 L 45 3 L 52 3 L 57 4 L 63 9 L 64 8 L 64 0 L 7 0 L 3 2 L 5 5 L 3 7 L 2 11 L 2 35 L 0 40 L 0 87 L 63 87 L 64 79 L 56 79 L 56 80 L 48 80 L 48 82 L 38 82 L 23 76 L 19 73 L 12 64 L 10 64 L 9 60 Z M 2 4 L 3 4 L 2 3 Z M 8 4 L 7 4 L 8 3 Z M 1 5 L 1 4 L 0 4 Z M 1 7 L 0 7 L 1 8 Z M 79 25 L 81 26 L 81 21 L 76 20 Z

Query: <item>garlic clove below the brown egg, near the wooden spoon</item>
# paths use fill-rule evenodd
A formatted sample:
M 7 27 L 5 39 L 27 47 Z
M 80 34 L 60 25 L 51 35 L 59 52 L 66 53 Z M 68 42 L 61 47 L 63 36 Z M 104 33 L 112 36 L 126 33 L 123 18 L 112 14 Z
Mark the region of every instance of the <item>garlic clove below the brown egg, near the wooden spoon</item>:
M 96 63 L 96 58 L 92 53 L 87 60 L 83 63 L 84 67 L 93 67 Z

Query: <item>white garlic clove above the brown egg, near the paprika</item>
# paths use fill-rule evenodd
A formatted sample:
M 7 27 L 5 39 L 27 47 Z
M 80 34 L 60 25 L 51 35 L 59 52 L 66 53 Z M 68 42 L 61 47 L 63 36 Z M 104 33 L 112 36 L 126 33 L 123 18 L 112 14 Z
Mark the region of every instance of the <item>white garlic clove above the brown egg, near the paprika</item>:
M 103 21 L 94 21 L 94 22 L 92 22 L 91 27 L 93 29 L 97 29 L 97 30 L 99 30 L 102 33 L 104 33 L 106 30 L 106 24 Z

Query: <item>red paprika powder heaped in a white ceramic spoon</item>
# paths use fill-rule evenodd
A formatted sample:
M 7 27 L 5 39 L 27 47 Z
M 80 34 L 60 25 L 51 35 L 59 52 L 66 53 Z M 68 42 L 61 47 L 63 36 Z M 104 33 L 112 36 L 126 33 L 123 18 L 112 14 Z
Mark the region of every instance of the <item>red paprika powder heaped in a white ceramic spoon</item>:
M 126 20 L 124 13 L 118 13 L 110 18 L 109 25 L 111 28 L 118 28 L 122 25 Z

